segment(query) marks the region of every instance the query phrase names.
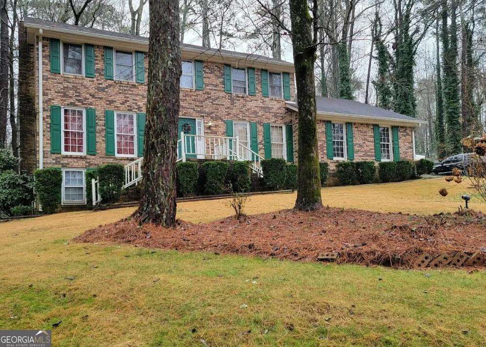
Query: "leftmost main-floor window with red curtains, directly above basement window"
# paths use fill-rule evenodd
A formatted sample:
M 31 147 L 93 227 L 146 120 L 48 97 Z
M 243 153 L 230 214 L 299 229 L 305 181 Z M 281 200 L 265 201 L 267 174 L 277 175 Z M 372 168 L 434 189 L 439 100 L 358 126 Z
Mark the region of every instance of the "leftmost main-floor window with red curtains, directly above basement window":
M 85 154 L 85 111 L 63 109 L 62 154 Z

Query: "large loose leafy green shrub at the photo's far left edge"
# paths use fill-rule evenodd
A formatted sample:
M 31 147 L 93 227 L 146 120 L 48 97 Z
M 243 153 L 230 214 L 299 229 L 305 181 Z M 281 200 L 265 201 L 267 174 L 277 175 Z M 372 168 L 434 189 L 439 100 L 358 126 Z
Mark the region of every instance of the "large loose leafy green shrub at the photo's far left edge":
M 10 215 L 13 207 L 29 205 L 34 200 L 32 188 L 32 179 L 27 175 L 13 170 L 0 173 L 0 211 Z

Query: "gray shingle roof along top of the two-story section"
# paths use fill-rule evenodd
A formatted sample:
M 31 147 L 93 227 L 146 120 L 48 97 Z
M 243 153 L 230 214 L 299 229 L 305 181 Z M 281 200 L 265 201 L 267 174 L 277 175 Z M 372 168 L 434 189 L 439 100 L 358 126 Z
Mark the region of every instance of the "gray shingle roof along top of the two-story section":
M 44 27 L 48 28 L 49 30 L 52 31 L 70 31 L 73 32 L 75 31 L 77 34 L 84 34 L 84 35 L 102 35 L 106 36 L 107 38 L 110 39 L 115 39 L 115 40 L 121 40 L 121 41 L 138 41 L 139 43 L 145 43 L 148 45 L 148 37 L 144 36 L 137 36 L 137 35 L 130 35 L 130 34 L 124 34 L 124 33 L 118 33 L 114 31 L 108 31 L 108 30 L 101 30 L 101 29 L 96 29 L 96 28 L 88 28 L 84 26 L 77 26 L 77 25 L 72 25 L 72 24 L 66 24 L 66 23 L 60 23 L 60 22 L 53 22 L 49 20 L 43 20 L 43 19 L 37 19 L 37 18 L 25 18 L 24 19 L 24 24 L 26 26 L 35 26 L 35 27 Z M 182 50 L 189 50 L 189 51 L 194 51 L 194 50 L 202 50 L 205 53 L 208 54 L 214 54 L 214 55 L 221 55 L 221 56 L 230 56 L 233 58 L 241 58 L 241 59 L 248 59 L 248 60 L 259 60 L 259 61 L 266 61 L 268 63 L 275 63 L 275 64 L 280 64 L 280 65 L 289 65 L 293 66 L 294 64 L 285 60 L 280 60 L 280 59 L 274 59 L 274 58 L 269 58 L 266 56 L 261 56 L 258 54 L 248 54 L 244 52 L 235 52 L 235 51 L 229 51 L 226 49 L 216 49 L 216 48 L 205 48 L 202 46 L 198 45 L 193 45 L 193 44 L 188 44 L 188 43 L 181 43 L 181 48 Z

